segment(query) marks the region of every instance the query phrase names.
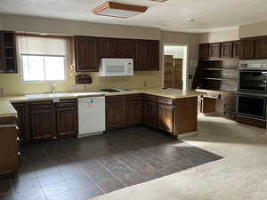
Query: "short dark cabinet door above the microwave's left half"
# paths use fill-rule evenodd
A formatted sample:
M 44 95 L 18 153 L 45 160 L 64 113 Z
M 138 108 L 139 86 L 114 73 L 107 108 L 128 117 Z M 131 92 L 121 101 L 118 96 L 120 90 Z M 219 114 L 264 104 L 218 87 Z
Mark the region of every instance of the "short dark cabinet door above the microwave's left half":
M 112 38 L 99 38 L 98 50 L 100 58 L 116 58 L 117 40 Z

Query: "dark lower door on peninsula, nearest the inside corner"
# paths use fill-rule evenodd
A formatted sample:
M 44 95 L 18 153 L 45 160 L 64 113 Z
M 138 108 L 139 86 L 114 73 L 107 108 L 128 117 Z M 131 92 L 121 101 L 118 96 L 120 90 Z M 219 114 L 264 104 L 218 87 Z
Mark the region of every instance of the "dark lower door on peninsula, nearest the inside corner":
M 157 102 L 146 100 L 144 103 L 144 124 L 157 128 Z

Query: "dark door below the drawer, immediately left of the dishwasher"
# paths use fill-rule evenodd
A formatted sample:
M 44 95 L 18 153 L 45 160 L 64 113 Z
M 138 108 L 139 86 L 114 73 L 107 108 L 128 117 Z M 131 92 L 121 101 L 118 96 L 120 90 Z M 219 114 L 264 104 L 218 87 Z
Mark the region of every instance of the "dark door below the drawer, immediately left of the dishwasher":
M 57 108 L 57 135 L 77 135 L 77 108 Z

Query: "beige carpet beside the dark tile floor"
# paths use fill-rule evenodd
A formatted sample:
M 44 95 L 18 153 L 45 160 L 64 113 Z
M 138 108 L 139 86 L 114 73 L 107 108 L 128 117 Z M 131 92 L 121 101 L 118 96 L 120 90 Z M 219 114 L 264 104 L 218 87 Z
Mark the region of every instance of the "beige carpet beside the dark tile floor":
M 224 158 L 123 188 L 93 200 L 266 200 L 265 130 L 220 117 L 199 117 L 192 145 Z

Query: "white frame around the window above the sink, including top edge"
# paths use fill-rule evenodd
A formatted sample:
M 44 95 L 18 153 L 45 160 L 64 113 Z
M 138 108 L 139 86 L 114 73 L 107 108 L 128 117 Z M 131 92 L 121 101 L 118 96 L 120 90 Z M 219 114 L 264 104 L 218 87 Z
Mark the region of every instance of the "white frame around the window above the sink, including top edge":
M 65 55 L 49 55 L 49 54 L 25 54 L 25 53 L 20 53 L 20 41 L 19 41 L 19 37 L 21 35 L 16 36 L 16 44 L 19 48 L 17 48 L 17 57 L 19 60 L 19 72 L 20 72 L 20 77 L 21 77 L 21 83 L 22 84 L 53 84 L 53 83 L 65 83 L 67 82 L 67 76 L 68 76 L 68 68 L 67 68 L 67 60 L 68 60 L 68 40 L 66 38 L 65 39 Z M 23 36 L 23 35 L 22 35 Z M 30 35 L 29 35 L 30 36 Z M 33 35 L 36 36 L 36 35 Z M 39 37 L 43 37 L 43 38 L 47 38 L 47 36 L 39 36 Z M 61 37 L 58 37 L 61 38 Z M 61 38 L 62 39 L 62 38 Z M 42 56 L 42 57 L 61 57 L 64 58 L 64 79 L 63 80 L 34 80 L 34 81 L 28 81 L 24 79 L 24 71 L 23 71 L 23 61 L 22 61 L 22 56 L 23 55 L 28 55 L 28 56 Z

